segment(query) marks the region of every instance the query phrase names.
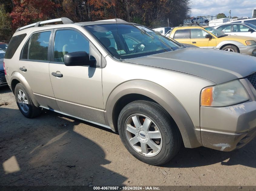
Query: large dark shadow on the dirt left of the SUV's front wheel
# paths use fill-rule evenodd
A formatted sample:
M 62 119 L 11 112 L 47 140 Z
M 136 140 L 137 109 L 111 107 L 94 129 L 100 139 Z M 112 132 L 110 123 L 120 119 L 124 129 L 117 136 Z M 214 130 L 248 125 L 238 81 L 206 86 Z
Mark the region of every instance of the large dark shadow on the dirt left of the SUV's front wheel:
M 100 145 L 74 131 L 81 121 L 45 110 L 33 119 L 17 109 L 0 107 L 0 113 L 0 185 L 90 187 L 127 180 L 104 167 L 111 161 Z

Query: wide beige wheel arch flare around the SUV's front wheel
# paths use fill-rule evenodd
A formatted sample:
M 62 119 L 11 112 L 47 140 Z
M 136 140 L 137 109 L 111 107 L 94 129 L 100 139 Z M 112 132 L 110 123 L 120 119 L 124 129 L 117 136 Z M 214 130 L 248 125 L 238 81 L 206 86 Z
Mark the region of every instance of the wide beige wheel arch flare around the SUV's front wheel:
M 155 100 L 171 115 L 177 124 L 185 147 L 202 146 L 200 129 L 196 130 L 188 113 L 165 88 L 151 81 L 132 80 L 119 84 L 109 95 L 106 102 L 105 119 L 108 126 L 115 130 L 113 125 L 113 109 L 117 101 L 127 94 L 141 94 Z M 199 117 L 199 116 L 198 116 Z M 188 136 L 189 135 L 189 136 Z

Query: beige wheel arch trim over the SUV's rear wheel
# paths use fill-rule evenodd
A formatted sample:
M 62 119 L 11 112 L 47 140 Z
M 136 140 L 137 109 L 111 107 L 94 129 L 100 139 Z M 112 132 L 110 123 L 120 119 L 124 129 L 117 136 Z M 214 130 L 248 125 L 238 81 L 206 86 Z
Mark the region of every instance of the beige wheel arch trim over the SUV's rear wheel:
M 11 89 L 12 89 L 13 94 L 15 93 L 14 92 L 15 86 L 18 83 L 22 83 L 24 85 L 24 87 L 27 89 L 29 96 L 30 96 L 32 102 L 34 103 L 34 105 L 40 106 L 38 101 L 35 99 L 35 95 L 33 94 L 33 91 L 31 89 L 31 87 L 29 86 L 28 82 L 26 81 L 26 79 L 19 72 L 14 72 L 11 77 Z

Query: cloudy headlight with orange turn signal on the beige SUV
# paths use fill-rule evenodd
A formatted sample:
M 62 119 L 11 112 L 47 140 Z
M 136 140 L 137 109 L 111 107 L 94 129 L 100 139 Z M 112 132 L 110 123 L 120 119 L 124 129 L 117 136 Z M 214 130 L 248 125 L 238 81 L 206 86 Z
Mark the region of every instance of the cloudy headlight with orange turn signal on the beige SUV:
M 249 100 L 239 80 L 204 88 L 201 91 L 201 106 L 225 107 Z

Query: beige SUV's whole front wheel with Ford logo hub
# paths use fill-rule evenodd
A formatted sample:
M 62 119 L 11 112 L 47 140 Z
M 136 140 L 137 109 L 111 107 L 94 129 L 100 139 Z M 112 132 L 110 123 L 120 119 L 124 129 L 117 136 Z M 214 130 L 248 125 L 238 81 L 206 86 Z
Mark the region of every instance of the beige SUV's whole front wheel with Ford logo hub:
M 162 165 L 180 148 L 180 135 L 169 114 L 157 103 L 134 101 L 118 117 L 118 132 L 127 150 L 142 162 Z

